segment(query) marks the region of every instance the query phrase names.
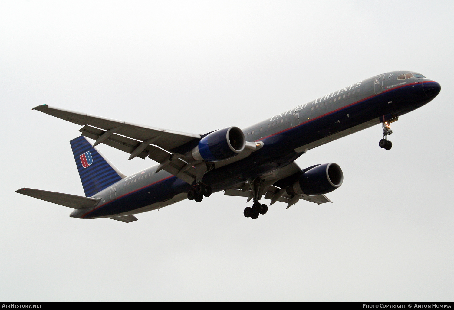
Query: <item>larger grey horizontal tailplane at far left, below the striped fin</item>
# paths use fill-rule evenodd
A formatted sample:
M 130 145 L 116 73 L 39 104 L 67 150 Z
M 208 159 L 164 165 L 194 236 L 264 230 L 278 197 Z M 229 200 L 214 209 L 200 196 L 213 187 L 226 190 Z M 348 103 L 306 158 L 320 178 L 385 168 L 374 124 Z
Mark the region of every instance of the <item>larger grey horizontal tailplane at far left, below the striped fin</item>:
M 83 196 L 76 196 L 70 194 L 63 194 L 63 193 L 55 193 L 49 192 L 47 190 L 40 190 L 40 189 L 27 189 L 22 188 L 16 190 L 16 193 L 27 195 L 33 198 L 38 198 L 41 200 L 49 201 L 51 203 L 57 203 L 59 205 L 79 209 L 79 208 L 86 208 L 86 207 L 93 207 L 96 205 L 100 198 L 94 199 L 89 197 Z

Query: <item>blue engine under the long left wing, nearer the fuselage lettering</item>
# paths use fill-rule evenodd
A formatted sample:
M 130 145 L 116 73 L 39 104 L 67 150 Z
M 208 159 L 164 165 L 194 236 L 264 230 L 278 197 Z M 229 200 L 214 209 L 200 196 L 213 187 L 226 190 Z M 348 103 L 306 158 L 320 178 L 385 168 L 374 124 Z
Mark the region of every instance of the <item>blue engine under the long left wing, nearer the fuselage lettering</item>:
M 220 161 L 240 154 L 246 145 L 246 138 L 240 128 L 232 126 L 213 131 L 203 137 L 192 149 L 194 160 Z

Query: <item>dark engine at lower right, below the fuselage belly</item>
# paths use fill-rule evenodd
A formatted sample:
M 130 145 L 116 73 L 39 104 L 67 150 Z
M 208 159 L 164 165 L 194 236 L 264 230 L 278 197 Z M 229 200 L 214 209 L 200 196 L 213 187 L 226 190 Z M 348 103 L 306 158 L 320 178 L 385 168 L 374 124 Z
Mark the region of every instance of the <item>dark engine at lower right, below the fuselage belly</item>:
M 287 192 L 292 195 L 322 195 L 337 189 L 343 181 L 344 174 L 339 165 L 335 163 L 317 165 L 301 174 Z

